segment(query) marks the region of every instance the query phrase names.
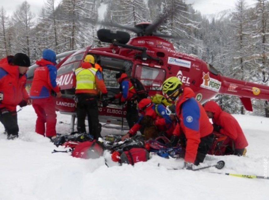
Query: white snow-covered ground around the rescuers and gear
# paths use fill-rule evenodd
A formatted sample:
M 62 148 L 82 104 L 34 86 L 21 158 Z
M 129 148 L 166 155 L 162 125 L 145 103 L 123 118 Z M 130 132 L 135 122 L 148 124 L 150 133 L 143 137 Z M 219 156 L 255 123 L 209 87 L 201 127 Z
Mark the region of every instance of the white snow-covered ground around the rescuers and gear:
M 70 116 L 57 113 L 58 121 Z M 133 166 L 114 163 L 105 152 L 99 159 L 73 158 L 69 153 L 51 153 L 57 148 L 49 139 L 34 132 L 36 115 L 32 106 L 18 112 L 19 138 L 7 140 L 0 125 L 1 200 L 179 200 L 179 199 L 268 199 L 269 181 L 246 179 L 209 172 L 263 176 L 269 160 L 269 119 L 235 115 L 249 142 L 246 157 L 206 156 L 201 166 L 224 160 L 223 169 L 201 171 L 168 170 L 182 167 L 183 160 L 152 155 L 148 162 Z M 69 125 L 57 123 L 57 132 L 66 133 Z M 102 135 L 119 133 L 102 129 Z M 158 166 L 158 163 L 160 166 Z M 267 174 L 268 175 L 268 174 Z

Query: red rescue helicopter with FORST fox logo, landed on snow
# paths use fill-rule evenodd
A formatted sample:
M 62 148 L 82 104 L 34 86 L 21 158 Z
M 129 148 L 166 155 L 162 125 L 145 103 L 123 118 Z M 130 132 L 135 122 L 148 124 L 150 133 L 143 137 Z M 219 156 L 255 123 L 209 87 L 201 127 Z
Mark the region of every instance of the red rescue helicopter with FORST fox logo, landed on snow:
M 72 76 L 74 69 L 81 66 L 84 57 L 94 55 L 95 60 L 103 68 L 105 85 L 109 97 L 119 93 L 119 84 L 115 74 L 125 71 L 129 76 L 134 76 L 145 85 L 149 95 L 161 94 L 161 86 L 165 79 L 176 76 L 184 86 L 193 89 L 196 99 L 204 103 L 216 94 L 229 94 L 238 96 L 246 110 L 252 111 L 251 98 L 269 99 L 269 87 L 246 81 L 231 79 L 221 76 L 212 65 L 200 60 L 194 55 L 188 55 L 175 50 L 173 44 L 163 38 L 173 38 L 156 31 L 162 21 L 155 23 L 139 23 L 134 27 L 117 24 L 105 24 L 134 31 L 137 37 L 130 39 L 124 31 L 100 29 L 97 36 L 100 41 L 110 43 L 107 47 L 85 47 L 75 52 L 66 52 L 57 55 L 62 59 L 58 64 L 57 83 L 63 93 L 58 98 L 56 108 L 64 114 L 72 116 L 70 131 L 74 131 L 75 102 Z M 28 71 L 28 87 L 33 78 L 33 65 Z M 104 123 L 126 125 L 123 120 L 125 109 L 118 102 L 112 102 L 108 107 L 99 107 L 99 120 Z

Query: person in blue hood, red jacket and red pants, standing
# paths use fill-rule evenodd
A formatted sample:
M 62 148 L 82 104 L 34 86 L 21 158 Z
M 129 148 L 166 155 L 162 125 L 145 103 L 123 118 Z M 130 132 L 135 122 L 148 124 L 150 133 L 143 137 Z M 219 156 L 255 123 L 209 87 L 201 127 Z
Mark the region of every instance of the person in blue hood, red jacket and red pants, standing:
M 62 96 L 56 83 L 56 53 L 51 49 L 43 50 L 42 59 L 37 60 L 36 64 L 39 66 L 34 70 L 30 89 L 33 108 L 37 114 L 35 132 L 53 140 L 53 137 L 56 136 L 57 122 L 55 96 L 56 98 Z M 56 95 L 52 96 L 51 93 Z

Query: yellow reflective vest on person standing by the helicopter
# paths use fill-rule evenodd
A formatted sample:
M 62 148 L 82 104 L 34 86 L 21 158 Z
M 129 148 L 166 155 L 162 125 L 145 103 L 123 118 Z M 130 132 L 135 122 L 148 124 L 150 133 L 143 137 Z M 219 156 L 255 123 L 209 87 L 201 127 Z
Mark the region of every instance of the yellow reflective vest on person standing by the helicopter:
M 95 74 L 97 69 L 78 68 L 75 70 L 77 85 L 76 89 L 96 89 Z

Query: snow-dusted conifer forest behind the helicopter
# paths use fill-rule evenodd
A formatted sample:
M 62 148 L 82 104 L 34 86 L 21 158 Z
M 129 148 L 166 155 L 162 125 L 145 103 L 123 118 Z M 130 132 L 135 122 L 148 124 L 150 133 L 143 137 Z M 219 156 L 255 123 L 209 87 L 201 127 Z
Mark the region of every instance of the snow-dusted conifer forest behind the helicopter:
M 183 38 L 170 40 L 177 51 L 197 55 L 224 76 L 268 85 L 268 0 L 256 0 L 251 8 L 238 0 L 233 12 L 210 20 L 183 0 L 62 0 L 57 6 L 55 2 L 45 0 L 38 16 L 27 1 L 12 16 L 1 7 L 1 58 L 23 52 L 34 64 L 45 48 L 62 53 L 105 46 L 96 35 L 102 28 L 97 21 L 134 26 L 165 15 L 159 31 Z M 217 95 L 216 100 L 227 112 L 248 113 L 238 97 Z M 268 101 L 252 100 L 252 105 L 249 114 L 269 117 Z

